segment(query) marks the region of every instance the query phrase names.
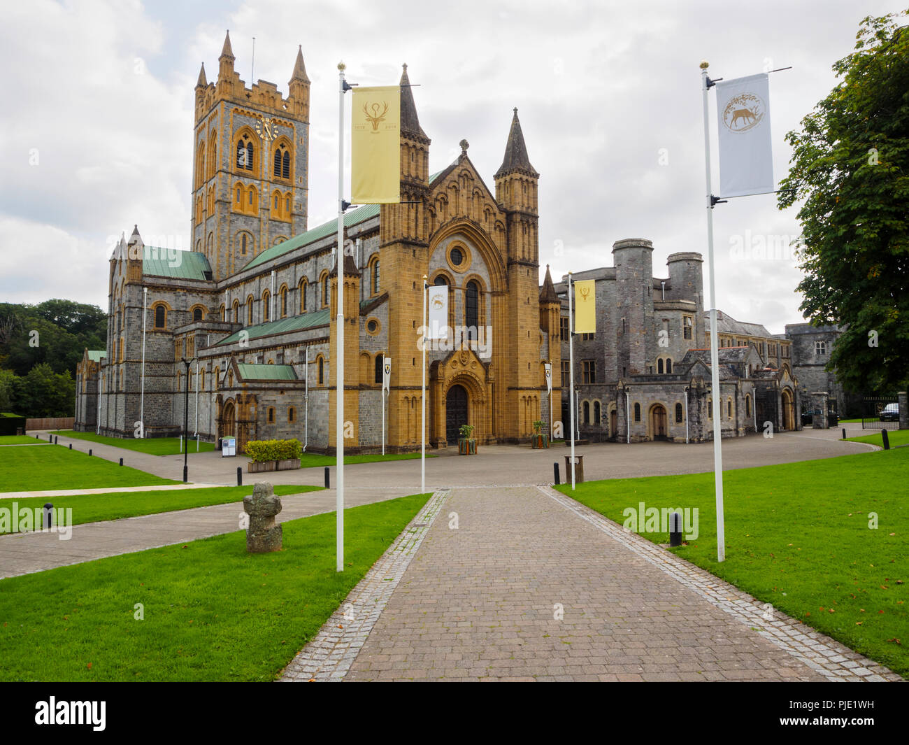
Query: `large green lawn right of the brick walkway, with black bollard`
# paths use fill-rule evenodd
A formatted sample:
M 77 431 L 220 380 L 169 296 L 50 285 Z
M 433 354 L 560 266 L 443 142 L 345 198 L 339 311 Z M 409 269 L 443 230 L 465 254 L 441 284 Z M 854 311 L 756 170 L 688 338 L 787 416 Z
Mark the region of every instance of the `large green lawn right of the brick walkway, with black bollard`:
M 907 482 L 909 448 L 726 471 L 722 564 L 713 473 L 556 488 L 620 525 L 639 502 L 698 508 L 698 538 L 674 553 L 909 677 Z

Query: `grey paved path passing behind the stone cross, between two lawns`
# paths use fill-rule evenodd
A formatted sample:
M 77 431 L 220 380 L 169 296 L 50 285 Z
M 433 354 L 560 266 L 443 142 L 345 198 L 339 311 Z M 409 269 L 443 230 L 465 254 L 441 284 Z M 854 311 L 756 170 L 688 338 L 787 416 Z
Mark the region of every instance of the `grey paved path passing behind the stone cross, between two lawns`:
M 345 504 L 356 507 L 396 496 L 387 491 L 358 490 L 345 495 Z M 281 505 L 278 522 L 334 512 L 335 489 L 285 495 Z M 243 502 L 239 501 L 75 525 L 68 540 L 51 532 L 0 536 L 0 579 L 231 533 L 240 529 L 241 514 Z

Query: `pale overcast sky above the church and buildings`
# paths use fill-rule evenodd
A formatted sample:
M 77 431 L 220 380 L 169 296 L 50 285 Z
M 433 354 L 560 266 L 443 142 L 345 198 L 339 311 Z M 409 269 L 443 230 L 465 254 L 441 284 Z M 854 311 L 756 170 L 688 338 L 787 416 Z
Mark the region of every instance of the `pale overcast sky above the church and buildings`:
M 466 138 L 490 188 L 517 106 L 540 173 L 541 279 L 548 263 L 558 281 L 612 266 L 625 237 L 653 240 L 657 277 L 675 251 L 706 255 L 702 59 L 725 79 L 793 65 L 771 76 L 778 183 L 785 133 L 835 85 L 831 65 L 852 51 L 861 19 L 899 9 L 865 0 L 5 4 L 0 301 L 106 307 L 112 237 L 135 223 L 146 242 L 188 246 L 193 88 L 201 62 L 216 76 L 228 28 L 247 86 L 255 36 L 255 79 L 285 95 L 303 45 L 310 227 L 335 215 L 339 60 L 362 85 L 395 84 L 407 63 L 433 140 L 431 171 Z M 710 116 L 716 193 L 713 100 Z M 802 320 L 794 259 L 732 251 L 735 240 L 798 235 L 796 209 L 775 204 L 769 195 L 717 206 L 714 245 L 717 306 L 780 333 Z

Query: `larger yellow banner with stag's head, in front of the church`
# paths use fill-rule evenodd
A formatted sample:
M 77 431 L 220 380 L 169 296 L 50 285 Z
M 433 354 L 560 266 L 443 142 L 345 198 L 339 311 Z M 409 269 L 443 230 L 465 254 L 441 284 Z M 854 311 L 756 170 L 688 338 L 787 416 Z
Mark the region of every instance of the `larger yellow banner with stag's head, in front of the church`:
M 401 88 L 354 88 L 351 197 L 355 205 L 401 201 Z

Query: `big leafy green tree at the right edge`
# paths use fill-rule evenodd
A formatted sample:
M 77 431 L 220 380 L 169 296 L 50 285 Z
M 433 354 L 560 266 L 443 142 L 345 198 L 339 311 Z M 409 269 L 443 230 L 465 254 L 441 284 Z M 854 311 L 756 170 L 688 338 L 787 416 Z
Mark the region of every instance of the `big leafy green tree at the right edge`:
M 856 391 L 909 382 L 909 11 L 866 17 L 840 83 L 789 132 L 777 206 L 803 200 L 800 309 L 845 327 L 830 367 Z

